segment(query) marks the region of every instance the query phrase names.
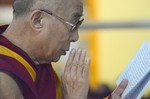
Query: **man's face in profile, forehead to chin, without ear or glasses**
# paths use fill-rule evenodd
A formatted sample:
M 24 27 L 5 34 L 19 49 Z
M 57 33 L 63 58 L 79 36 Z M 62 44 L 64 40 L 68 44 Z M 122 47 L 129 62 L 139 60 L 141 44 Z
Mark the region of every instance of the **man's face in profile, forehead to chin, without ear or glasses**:
M 78 40 L 78 30 L 71 32 L 72 27 L 66 24 L 64 20 L 76 24 L 83 12 L 81 0 L 61 0 L 58 6 L 53 12 L 56 16 L 47 14 L 47 25 L 42 35 L 44 57 L 53 62 L 58 61 L 61 55 L 66 55 L 70 43 Z

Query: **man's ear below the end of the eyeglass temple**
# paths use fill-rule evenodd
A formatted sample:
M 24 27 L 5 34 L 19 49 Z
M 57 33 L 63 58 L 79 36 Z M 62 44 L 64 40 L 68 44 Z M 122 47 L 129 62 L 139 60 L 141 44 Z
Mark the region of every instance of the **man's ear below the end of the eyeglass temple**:
M 39 10 L 33 11 L 30 15 L 30 25 L 36 30 L 40 31 L 43 27 L 43 13 Z

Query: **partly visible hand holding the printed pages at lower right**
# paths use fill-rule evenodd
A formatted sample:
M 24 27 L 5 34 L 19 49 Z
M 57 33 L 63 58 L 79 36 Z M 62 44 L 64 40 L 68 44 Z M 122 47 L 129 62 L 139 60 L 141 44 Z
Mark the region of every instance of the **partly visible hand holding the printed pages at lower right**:
M 125 90 L 128 81 L 124 79 L 119 86 L 112 92 L 111 96 L 108 99 L 121 99 L 121 94 Z

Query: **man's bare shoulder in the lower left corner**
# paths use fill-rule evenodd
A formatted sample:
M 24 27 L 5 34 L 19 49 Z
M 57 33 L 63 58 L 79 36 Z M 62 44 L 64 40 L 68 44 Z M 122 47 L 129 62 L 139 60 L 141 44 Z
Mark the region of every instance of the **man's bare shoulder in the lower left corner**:
M 17 82 L 8 72 L 0 72 L 0 99 L 24 99 Z

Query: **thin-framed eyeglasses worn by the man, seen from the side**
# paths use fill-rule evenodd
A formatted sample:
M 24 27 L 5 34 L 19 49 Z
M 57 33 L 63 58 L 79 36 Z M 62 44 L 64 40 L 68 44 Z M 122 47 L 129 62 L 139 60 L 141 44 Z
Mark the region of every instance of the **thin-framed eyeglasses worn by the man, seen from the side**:
M 79 27 L 80 27 L 80 25 L 81 25 L 82 22 L 84 21 L 84 18 L 81 17 L 81 18 L 78 20 L 78 22 L 76 22 L 75 24 L 73 24 L 73 23 L 70 23 L 70 22 L 64 20 L 63 18 L 61 18 L 61 17 L 59 17 L 59 16 L 53 14 L 53 13 L 50 12 L 49 10 L 40 9 L 40 11 L 43 11 L 43 12 L 49 14 L 49 15 L 55 16 L 57 19 L 61 20 L 63 23 L 69 25 L 69 26 L 71 27 L 70 32 L 75 32 L 76 30 L 78 30 Z

